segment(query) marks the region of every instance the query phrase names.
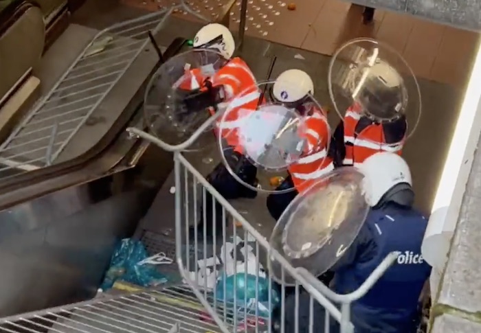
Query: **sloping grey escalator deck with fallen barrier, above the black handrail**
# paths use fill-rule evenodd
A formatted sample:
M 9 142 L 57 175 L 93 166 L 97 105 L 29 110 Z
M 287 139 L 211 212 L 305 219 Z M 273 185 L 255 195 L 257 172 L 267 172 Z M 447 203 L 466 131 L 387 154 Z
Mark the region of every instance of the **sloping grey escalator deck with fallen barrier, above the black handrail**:
M 156 13 L 93 38 L 3 139 L 1 193 L 78 168 L 111 146 L 132 120 L 139 107 L 138 93 L 157 67 L 155 49 L 145 51 L 150 44 L 147 34 L 164 17 L 166 12 Z

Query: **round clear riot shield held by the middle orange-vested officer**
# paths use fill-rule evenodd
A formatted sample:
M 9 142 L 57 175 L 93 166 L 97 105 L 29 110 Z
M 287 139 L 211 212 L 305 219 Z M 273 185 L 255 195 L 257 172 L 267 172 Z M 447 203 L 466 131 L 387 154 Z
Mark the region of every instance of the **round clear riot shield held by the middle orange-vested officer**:
M 262 82 L 236 95 L 216 130 L 223 162 L 238 182 L 258 192 L 284 193 L 299 185 L 298 180 L 284 181 L 293 168 L 304 157 L 327 150 L 330 131 L 327 122 L 323 127 L 324 111 L 312 95 L 285 103 L 273 97 L 275 84 Z M 295 84 L 290 88 L 298 89 Z M 325 158 L 309 167 L 320 166 Z M 244 170 L 253 167 L 256 179 L 245 176 Z

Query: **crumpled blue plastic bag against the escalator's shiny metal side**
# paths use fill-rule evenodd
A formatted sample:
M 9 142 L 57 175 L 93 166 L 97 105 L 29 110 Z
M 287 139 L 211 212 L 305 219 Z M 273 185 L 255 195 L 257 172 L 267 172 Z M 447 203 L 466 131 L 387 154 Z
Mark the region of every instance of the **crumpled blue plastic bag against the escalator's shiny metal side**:
M 139 240 L 125 238 L 113 252 L 110 267 L 104 277 L 102 290 L 109 290 L 117 280 L 142 287 L 153 287 L 168 282 L 166 275 L 157 267 L 142 262 L 148 255 L 144 244 Z

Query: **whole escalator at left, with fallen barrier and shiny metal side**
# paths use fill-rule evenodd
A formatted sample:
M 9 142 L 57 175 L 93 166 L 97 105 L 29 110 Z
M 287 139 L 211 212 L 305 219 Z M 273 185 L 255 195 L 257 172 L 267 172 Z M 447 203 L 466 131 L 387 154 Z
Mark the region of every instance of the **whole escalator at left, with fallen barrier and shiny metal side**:
M 36 7 L 15 13 L 25 8 Z M 12 286 L 0 291 L 1 316 L 93 297 L 116 242 L 150 205 L 153 185 L 132 184 L 127 173 L 137 172 L 148 144 L 124 129 L 142 127 L 150 76 L 186 47 L 176 38 L 157 53 L 150 36 L 169 15 L 118 23 L 86 45 L 79 38 L 79 53 L 52 88 L 0 128 L 0 282 Z M 71 30 L 60 39 L 76 38 Z

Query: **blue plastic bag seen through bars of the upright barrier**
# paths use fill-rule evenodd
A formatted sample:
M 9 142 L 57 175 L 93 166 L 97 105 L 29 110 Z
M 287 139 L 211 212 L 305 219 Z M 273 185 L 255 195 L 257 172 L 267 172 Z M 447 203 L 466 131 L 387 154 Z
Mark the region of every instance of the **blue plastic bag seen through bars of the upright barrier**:
M 235 289 L 234 281 L 236 285 Z M 271 293 L 270 303 L 269 292 Z M 269 288 L 268 279 L 245 273 L 237 273 L 236 275 L 227 277 L 223 275 L 216 284 L 216 295 L 217 300 L 225 302 L 227 308 L 234 307 L 235 295 L 236 309 L 234 311 L 243 312 L 243 310 L 247 308 L 247 314 L 254 316 L 256 315 L 257 309 L 258 317 L 263 318 L 268 318 L 269 314 L 280 302 L 278 292 L 273 288 Z

